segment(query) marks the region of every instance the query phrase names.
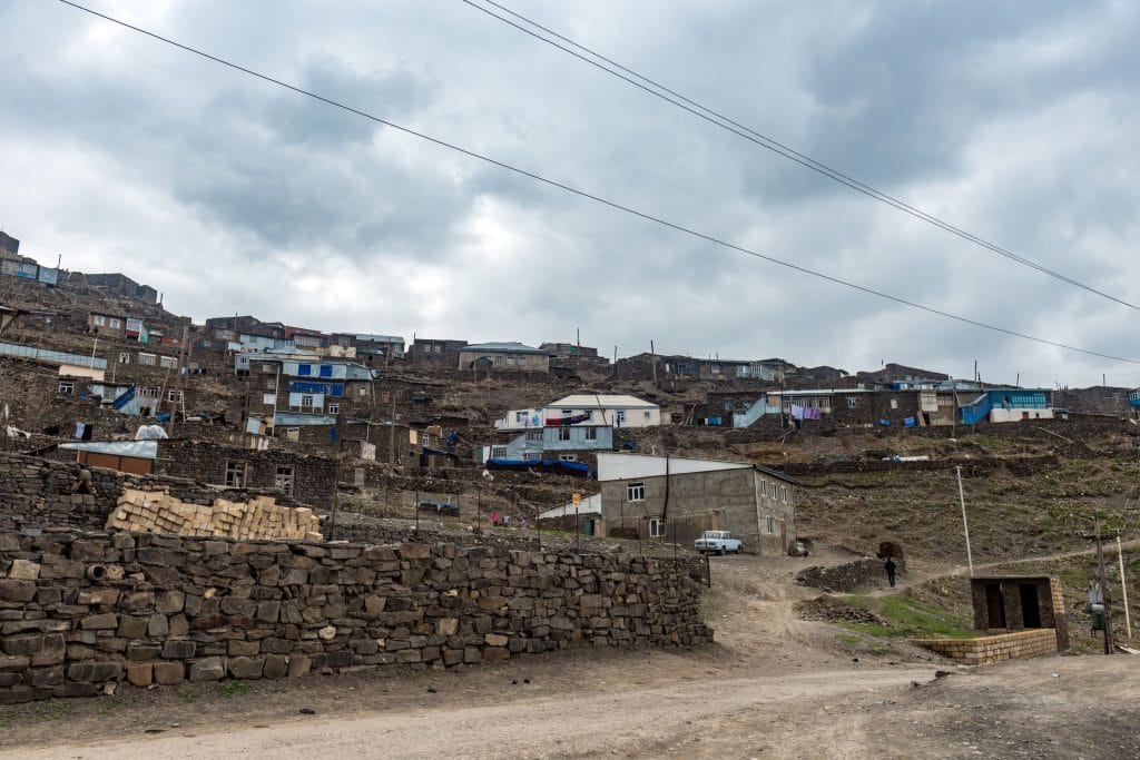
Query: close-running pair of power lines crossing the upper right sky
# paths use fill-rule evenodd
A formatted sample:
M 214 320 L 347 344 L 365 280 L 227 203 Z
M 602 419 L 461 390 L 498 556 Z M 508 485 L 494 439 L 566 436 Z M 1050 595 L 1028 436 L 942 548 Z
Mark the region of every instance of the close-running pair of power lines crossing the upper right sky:
M 596 52 L 596 51 L 594 51 L 594 50 L 592 50 L 592 49 L 589 49 L 589 48 L 587 48 L 587 47 L 585 47 L 583 44 L 579 44 L 578 42 L 575 42 L 570 38 L 563 36 L 562 34 L 559 34 L 557 32 L 555 32 L 555 31 L 553 31 L 551 28 L 547 28 L 546 26 L 543 26 L 542 24 L 539 24 L 537 22 L 534 22 L 534 21 L 527 18 L 526 16 L 523 16 L 521 14 L 518 14 L 518 13 L 511 10 L 510 8 L 506 8 L 505 6 L 500 6 L 499 3 L 495 2 L 495 0 L 482 0 L 482 1 L 486 2 L 489 6 L 498 8 L 503 13 L 508 14 L 508 15 L 513 16 L 514 18 L 518 18 L 518 19 L 524 22 L 526 24 L 529 24 L 530 26 L 534 26 L 535 28 L 542 30 L 544 33 L 549 34 L 551 36 L 553 36 L 553 38 L 555 38 L 557 40 L 562 40 L 567 44 L 569 44 L 569 46 L 571 46 L 573 48 L 577 48 L 578 50 L 581 50 L 581 51 L 588 54 L 589 56 L 593 56 L 594 58 L 597 58 L 597 60 L 604 62 L 609 66 L 613 66 L 618 71 L 614 71 L 614 68 L 609 68 L 606 65 L 603 65 L 603 64 L 598 63 L 597 60 L 594 60 L 592 58 L 587 58 L 586 56 L 584 56 L 584 55 L 581 55 L 579 52 L 576 52 L 575 50 L 571 50 L 569 47 L 559 44 L 554 40 L 551 40 L 551 39 L 548 39 L 546 36 L 543 36 L 542 34 L 537 34 L 537 33 L 532 32 L 531 30 L 529 30 L 529 28 L 527 28 L 524 26 L 521 26 L 520 24 L 514 23 L 510 18 L 505 18 L 505 17 L 503 17 L 503 16 L 500 16 L 500 15 L 498 15 L 498 14 L 496 14 L 496 13 L 487 9 L 487 8 L 484 8 L 483 6 L 480 6 L 478 2 L 473 2 L 472 0 L 459 0 L 459 1 L 466 3 L 467 6 L 471 6 L 472 8 L 475 8 L 477 10 L 481 10 L 482 13 L 487 14 L 491 18 L 496 18 L 496 19 L 503 22 L 504 24 L 519 30 L 520 32 L 522 32 L 524 34 L 529 34 L 530 36 L 535 38 L 536 40 L 540 40 L 542 42 L 545 42 L 546 44 L 549 44 L 549 46 L 552 46 L 554 48 L 557 48 L 559 50 L 562 50 L 563 52 L 567 52 L 567 54 L 573 56 L 575 58 L 578 58 L 579 60 L 583 60 L 583 62 L 589 64 L 591 66 L 594 66 L 595 68 L 600 68 L 601 71 L 605 72 L 606 74 L 610 74 L 611 76 L 616 76 L 616 77 L 618 77 L 618 79 L 620 79 L 620 80 L 622 80 L 622 81 L 625 81 L 625 82 L 627 82 L 629 84 L 633 84 L 634 87 L 636 87 L 636 88 L 638 88 L 641 90 L 644 90 L 645 92 L 649 92 L 650 95 L 652 95 L 652 96 L 654 96 L 657 98 L 660 98 L 660 99 L 665 100 L 666 103 L 669 103 L 669 104 L 671 104 L 671 105 L 681 108 L 682 111 L 686 111 L 686 112 L 693 114 L 694 116 L 709 122 L 710 124 L 719 126 L 720 129 L 723 129 L 723 130 L 725 130 L 727 132 L 732 132 L 733 134 L 736 134 L 738 137 L 741 137 L 741 138 L 748 140 L 749 142 L 754 142 L 754 144 L 760 146 L 763 148 L 766 148 L 766 149 L 768 149 L 768 150 L 771 150 L 771 152 L 773 152 L 773 153 L 775 153 L 777 155 L 783 156 L 784 158 L 793 161 L 797 164 L 800 164 L 801 166 L 805 166 L 805 167 L 807 167 L 807 169 L 809 169 L 809 170 L 812 170 L 812 171 L 814 171 L 814 172 L 816 172 L 819 174 L 822 174 L 823 177 L 826 177 L 828 179 L 831 179 L 831 180 L 833 180 L 836 182 L 839 182 L 840 185 L 846 185 L 847 187 L 849 187 L 850 189 L 855 190 L 856 193 L 862 193 L 863 195 L 865 195 L 865 196 L 868 196 L 870 198 L 874 198 L 876 201 L 879 201 L 880 203 L 885 203 L 888 206 L 893 206 L 894 209 L 897 209 L 898 211 L 902 211 L 905 214 L 910 214 L 911 216 L 914 216 L 915 219 L 919 219 L 919 220 L 925 221 L 925 222 L 927 222 L 929 224 L 938 227 L 938 228 L 940 228 L 940 229 L 950 232 L 951 235 L 956 235 L 958 237 L 960 237 L 960 238 L 962 238 L 964 240 L 968 240 L 969 243 L 978 245 L 978 246 L 980 246 L 983 248 L 987 248 L 988 251 L 991 251 L 993 253 L 996 253 L 996 254 L 999 254 L 1001 256 L 1004 256 L 1004 258 L 1007 258 L 1007 259 L 1009 259 L 1009 260 L 1011 260 L 1013 262 L 1017 262 L 1017 263 L 1019 263 L 1019 264 L 1021 264 L 1024 267 L 1028 267 L 1031 269 L 1035 269 L 1039 272 L 1042 272 L 1043 275 L 1048 275 L 1049 277 L 1056 278 L 1056 279 L 1058 279 L 1058 280 L 1060 280 L 1060 281 L 1062 281 L 1062 283 L 1065 283 L 1067 285 L 1073 285 L 1074 287 L 1082 288 L 1084 291 L 1088 291 L 1089 293 L 1094 293 L 1096 295 L 1099 295 L 1101 297 L 1108 299 L 1109 301 L 1114 301 L 1114 302 L 1116 302 L 1118 304 L 1129 307 L 1130 309 L 1135 309 L 1135 310 L 1140 311 L 1140 307 L 1138 307 L 1138 305 L 1135 305 L 1135 304 L 1133 304 L 1133 303 L 1131 303 L 1129 301 L 1125 301 L 1125 300 L 1119 299 L 1119 297 L 1117 297 L 1115 295 L 1105 293 L 1102 291 L 1098 291 L 1097 288 L 1094 288 L 1094 287 L 1092 287 L 1090 285 L 1085 285 L 1084 283 L 1082 283 L 1082 281 L 1080 281 L 1077 279 L 1074 279 L 1073 277 L 1069 277 L 1068 275 L 1065 275 L 1065 273 L 1059 272 L 1057 270 L 1050 269 L 1050 268 L 1045 267 L 1044 264 L 1041 264 L 1041 263 L 1037 263 L 1036 261 L 1033 261 L 1032 259 L 1027 259 L 1025 256 L 1018 255 L 1017 253 L 1013 253 L 1012 251 L 1003 248 L 1003 247 L 1001 247 L 1000 245 L 997 245 L 995 243 L 991 243 L 990 240 L 986 240 L 985 238 L 978 237 L 977 235 L 974 235 L 974 234 L 968 232 L 968 231 L 966 231 L 963 229 L 960 229 L 960 228 L 955 227 L 954 224 L 951 224 L 950 222 L 947 222 L 945 220 L 942 220 L 942 219 L 939 219 L 939 218 L 937 218 L 937 216 L 935 216 L 933 214 L 929 214 L 929 213 L 922 211 L 921 209 L 917 209 L 917 207 L 914 207 L 914 206 L 905 203 L 904 201 L 901 201 L 901 199 L 898 199 L 898 198 L 896 198 L 896 197 L 894 197 L 891 195 L 888 195 L 887 193 L 883 193 L 881 190 L 877 190 L 876 188 L 873 188 L 873 187 L 871 187 L 869 185 L 865 185 L 864 182 L 861 182 L 860 180 L 857 180 L 857 179 L 855 179 L 855 178 L 853 178 L 853 177 L 850 177 L 850 175 L 848 175 L 848 174 L 839 171 L 838 169 L 833 169 L 831 166 L 828 166 L 826 164 L 823 164 L 823 163 L 821 163 L 821 162 L 812 158 L 811 156 L 807 156 L 807 155 L 805 155 L 803 153 L 799 153 L 798 150 L 795 150 L 793 148 L 788 147 L 787 145 L 784 145 L 784 144 L 782 144 L 782 142 L 780 142 L 780 141 L 777 141 L 777 140 L 775 140 L 775 139 L 773 139 L 771 137 L 762 134 L 760 132 L 758 132 L 758 131 L 756 131 L 756 130 L 754 130 L 754 129 L 751 129 L 749 126 L 746 126 L 744 124 L 741 124 L 740 122 L 733 121 L 728 116 L 725 116 L 724 114 L 722 114 L 722 113 L 719 113 L 717 111 L 714 111 L 712 108 L 703 106 L 700 103 L 697 103 L 695 100 L 692 100 L 692 99 L 690 99 L 690 98 L 681 95 L 679 92 L 669 89 L 668 87 L 666 87 L 665 84 L 661 84 L 660 82 L 656 82 L 654 80 L 652 80 L 652 79 L 650 79 L 650 77 L 648 77 L 648 76 L 645 76 L 643 74 L 638 74 L 636 71 L 634 71 L 632 68 L 627 68 L 626 66 L 622 66 L 621 64 L 617 63 L 616 60 L 613 60 L 611 58 L 608 58 L 608 57 L 603 56 L 602 54 Z M 625 74 L 629 74 L 629 76 L 626 76 L 621 72 L 625 72 Z M 630 77 L 633 77 L 633 79 L 630 79 Z M 640 80 L 640 81 L 637 81 L 637 80 Z M 644 84 L 642 82 L 644 82 Z M 653 88 L 657 88 L 657 89 L 653 89 Z

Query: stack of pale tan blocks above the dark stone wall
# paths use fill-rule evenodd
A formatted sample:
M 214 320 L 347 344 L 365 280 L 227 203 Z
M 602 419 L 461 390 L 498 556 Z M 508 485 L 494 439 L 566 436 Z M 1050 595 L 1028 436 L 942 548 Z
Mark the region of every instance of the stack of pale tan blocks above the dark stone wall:
M 107 520 L 107 529 L 236 539 L 321 540 L 320 520 L 306 507 L 283 507 L 268 496 L 250 501 L 214 499 L 207 507 L 172 497 L 165 488 L 124 489 Z

